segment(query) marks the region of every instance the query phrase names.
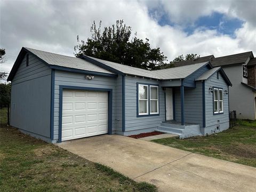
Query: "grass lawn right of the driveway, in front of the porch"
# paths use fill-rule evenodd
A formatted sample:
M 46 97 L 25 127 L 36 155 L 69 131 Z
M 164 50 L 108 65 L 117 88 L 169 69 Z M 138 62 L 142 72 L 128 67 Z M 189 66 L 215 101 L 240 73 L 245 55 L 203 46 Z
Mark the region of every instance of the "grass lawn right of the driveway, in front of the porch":
M 256 121 L 237 121 L 237 126 L 207 137 L 153 140 L 162 145 L 256 167 Z

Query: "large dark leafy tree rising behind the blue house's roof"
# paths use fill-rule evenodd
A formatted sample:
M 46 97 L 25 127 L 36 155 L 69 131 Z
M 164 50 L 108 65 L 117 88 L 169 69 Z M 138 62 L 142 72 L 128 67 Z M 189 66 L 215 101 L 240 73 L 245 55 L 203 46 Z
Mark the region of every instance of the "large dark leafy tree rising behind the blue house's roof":
M 123 20 L 117 20 L 115 25 L 105 27 L 101 33 L 101 21 L 99 27 L 95 21 L 91 27 L 92 37 L 87 41 L 79 41 L 74 47 L 75 56 L 85 54 L 91 57 L 121 63 L 123 65 L 142 69 L 155 69 L 164 65 L 167 57 L 159 47 L 151 49 L 149 39 L 146 41 L 137 38 L 137 33 L 131 38 L 132 28 L 126 26 Z

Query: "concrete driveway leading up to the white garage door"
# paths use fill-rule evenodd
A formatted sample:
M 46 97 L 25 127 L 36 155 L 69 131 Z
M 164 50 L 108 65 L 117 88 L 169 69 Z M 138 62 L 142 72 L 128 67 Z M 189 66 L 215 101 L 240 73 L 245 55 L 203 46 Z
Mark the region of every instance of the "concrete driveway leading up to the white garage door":
M 254 167 L 145 140 L 100 135 L 57 145 L 135 181 L 153 183 L 159 191 L 256 191 Z

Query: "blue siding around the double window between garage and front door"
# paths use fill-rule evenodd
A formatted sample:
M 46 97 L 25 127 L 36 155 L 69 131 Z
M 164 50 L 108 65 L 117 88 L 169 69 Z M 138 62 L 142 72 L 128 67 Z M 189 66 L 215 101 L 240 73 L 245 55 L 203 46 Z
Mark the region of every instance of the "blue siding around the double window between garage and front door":
M 165 121 L 164 91 L 159 86 L 159 116 L 137 117 L 137 82 L 159 85 L 159 81 L 125 76 L 125 131 L 156 129 Z

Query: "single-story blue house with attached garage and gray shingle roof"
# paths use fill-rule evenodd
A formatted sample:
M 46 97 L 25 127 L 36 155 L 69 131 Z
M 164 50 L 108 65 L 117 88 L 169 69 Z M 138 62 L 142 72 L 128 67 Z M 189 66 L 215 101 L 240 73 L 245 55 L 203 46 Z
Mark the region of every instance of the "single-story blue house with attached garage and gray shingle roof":
M 10 124 L 48 142 L 155 130 L 185 138 L 229 127 L 231 83 L 210 62 L 149 71 L 22 47 L 7 81 Z

